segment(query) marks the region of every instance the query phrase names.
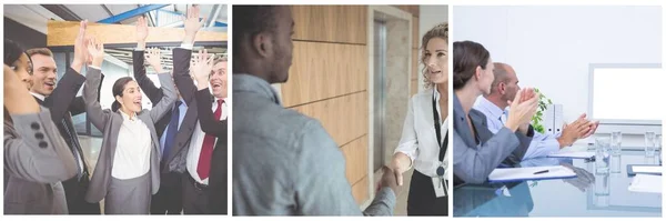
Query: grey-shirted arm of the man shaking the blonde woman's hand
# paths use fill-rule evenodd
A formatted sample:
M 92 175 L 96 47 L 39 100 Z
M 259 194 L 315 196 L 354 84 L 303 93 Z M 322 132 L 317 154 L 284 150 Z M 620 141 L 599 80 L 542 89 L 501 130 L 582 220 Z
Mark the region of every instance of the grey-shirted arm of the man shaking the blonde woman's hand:
M 301 130 L 296 155 L 295 199 L 304 215 L 362 215 L 345 177 L 345 162 L 340 148 L 317 121 Z M 384 188 L 366 210 L 369 215 L 391 215 L 395 194 Z

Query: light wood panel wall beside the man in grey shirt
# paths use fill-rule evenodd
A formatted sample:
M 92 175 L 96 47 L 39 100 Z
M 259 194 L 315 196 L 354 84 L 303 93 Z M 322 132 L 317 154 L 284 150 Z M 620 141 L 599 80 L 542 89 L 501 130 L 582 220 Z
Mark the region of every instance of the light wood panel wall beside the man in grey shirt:
M 286 108 L 320 120 L 345 157 L 359 203 L 370 198 L 367 174 L 367 8 L 292 6 L 294 54 L 280 87 Z

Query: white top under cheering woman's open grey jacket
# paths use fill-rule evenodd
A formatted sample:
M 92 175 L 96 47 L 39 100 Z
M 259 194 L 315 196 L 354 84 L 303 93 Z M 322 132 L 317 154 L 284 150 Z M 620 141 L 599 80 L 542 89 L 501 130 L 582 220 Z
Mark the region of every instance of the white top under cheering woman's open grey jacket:
M 130 119 L 124 112 L 119 112 L 123 121 L 118 133 L 111 175 L 127 180 L 141 177 L 150 170 L 152 139 L 150 130 L 135 113 Z

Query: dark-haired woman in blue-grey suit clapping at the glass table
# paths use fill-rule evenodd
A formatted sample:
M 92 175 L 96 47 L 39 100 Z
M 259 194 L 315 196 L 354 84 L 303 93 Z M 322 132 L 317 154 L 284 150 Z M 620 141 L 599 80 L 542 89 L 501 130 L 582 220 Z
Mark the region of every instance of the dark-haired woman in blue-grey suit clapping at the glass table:
M 483 183 L 500 163 L 519 161 L 529 147 L 534 130 L 529 125 L 538 96 L 522 89 L 511 103 L 504 128 L 492 133 L 486 117 L 472 109 L 476 98 L 488 94 L 495 79 L 491 53 L 480 43 L 453 43 L 453 173 L 457 183 Z

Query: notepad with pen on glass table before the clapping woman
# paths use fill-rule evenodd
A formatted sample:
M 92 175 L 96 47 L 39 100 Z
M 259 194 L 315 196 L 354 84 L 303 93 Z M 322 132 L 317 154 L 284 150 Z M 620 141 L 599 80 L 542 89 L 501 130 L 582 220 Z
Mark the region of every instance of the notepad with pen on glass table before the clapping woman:
M 539 171 L 543 173 L 534 174 Z M 551 180 L 575 178 L 576 173 L 562 165 L 532 167 L 532 168 L 497 168 L 488 175 L 490 182 L 515 182 L 523 180 Z

